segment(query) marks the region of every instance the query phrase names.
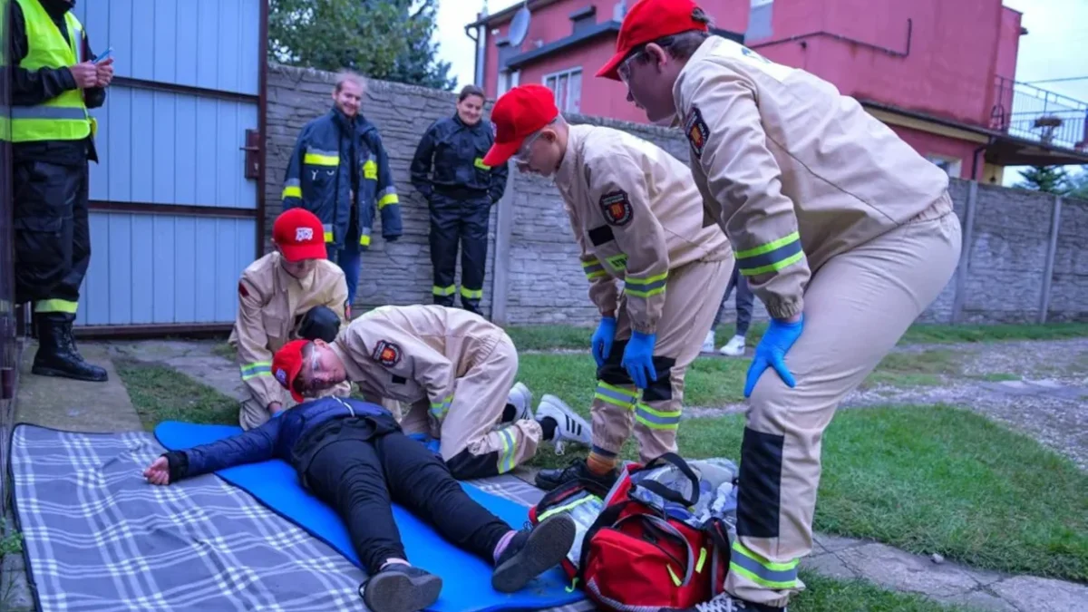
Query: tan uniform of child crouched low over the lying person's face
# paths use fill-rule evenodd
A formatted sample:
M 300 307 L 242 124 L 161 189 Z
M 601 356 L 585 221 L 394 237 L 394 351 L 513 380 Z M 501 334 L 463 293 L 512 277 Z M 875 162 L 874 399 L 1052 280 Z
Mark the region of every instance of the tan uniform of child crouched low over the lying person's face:
M 535 420 L 496 428 L 518 353 L 482 317 L 437 305 L 382 306 L 354 320 L 331 346 L 360 391 L 406 406 L 406 433 L 440 440 L 456 478 L 505 474 L 536 453 L 543 431 Z

